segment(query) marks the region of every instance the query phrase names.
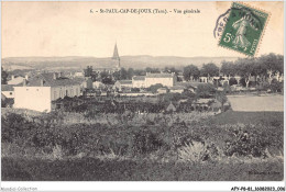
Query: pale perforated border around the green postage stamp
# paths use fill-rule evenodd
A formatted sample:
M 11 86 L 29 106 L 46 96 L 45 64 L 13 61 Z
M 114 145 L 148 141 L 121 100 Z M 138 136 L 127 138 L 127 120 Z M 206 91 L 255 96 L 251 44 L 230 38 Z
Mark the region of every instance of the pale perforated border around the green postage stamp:
M 233 7 L 233 3 L 234 3 L 234 1 L 231 3 L 231 8 Z M 261 36 L 260 36 L 260 41 L 258 41 L 258 45 L 257 45 L 257 47 L 256 47 L 256 50 L 255 50 L 254 55 L 249 55 L 249 54 L 245 54 L 245 53 L 243 53 L 243 52 L 234 50 L 234 49 L 232 49 L 232 48 L 229 48 L 229 47 L 227 47 L 227 46 L 224 46 L 224 45 L 220 45 L 220 41 L 221 41 L 221 38 L 222 38 L 222 35 L 220 36 L 220 38 L 219 38 L 219 41 L 218 41 L 218 46 L 219 46 L 219 47 L 227 48 L 228 50 L 231 50 L 231 52 L 240 53 L 240 54 L 242 54 L 242 55 L 244 55 L 244 56 L 248 56 L 248 57 L 255 57 L 255 56 L 257 55 L 258 50 L 260 50 L 261 42 L 262 42 L 262 39 L 263 39 L 265 30 L 266 30 L 266 27 L 267 27 L 267 25 L 268 25 L 268 22 L 270 22 L 270 19 L 271 19 L 271 12 L 265 11 L 265 10 L 263 10 L 263 9 L 261 9 L 261 8 L 256 8 L 255 5 L 250 5 L 250 4 L 245 3 L 245 2 L 235 1 L 235 3 L 240 3 L 240 4 L 243 4 L 243 5 L 248 7 L 248 8 L 255 9 L 255 10 L 258 10 L 258 11 L 261 11 L 261 12 L 264 12 L 264 13 L 267 13 L 267 14 L 268 14 L 268 16 L 267 16 L 267 19 L 266 19 L 266 21 L 265 21 L 265 25 L 264 25 L 264 27 L 263 27 L 263 30 L 262 30 L 262 33 L 261 33 Z M 231 9 L 231 8 L 230 8 L 230 9 Z M 230 12 L 229 12 L 228 19 L 229 19 L 229 16 L 230 16 Z M 226 31 L 226 26 L 224 26 L 224 29 L 223 29 L 223 31 L 222 31 L 222 34 L 224 33 L 224 31 Z

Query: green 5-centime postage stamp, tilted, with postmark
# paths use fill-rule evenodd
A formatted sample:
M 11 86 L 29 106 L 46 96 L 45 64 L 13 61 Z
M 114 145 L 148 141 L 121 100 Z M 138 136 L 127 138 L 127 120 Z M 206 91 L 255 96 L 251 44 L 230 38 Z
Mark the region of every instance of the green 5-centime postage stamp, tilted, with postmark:
M 219 45 L 254 56 L 270 13 L 233 2 Z

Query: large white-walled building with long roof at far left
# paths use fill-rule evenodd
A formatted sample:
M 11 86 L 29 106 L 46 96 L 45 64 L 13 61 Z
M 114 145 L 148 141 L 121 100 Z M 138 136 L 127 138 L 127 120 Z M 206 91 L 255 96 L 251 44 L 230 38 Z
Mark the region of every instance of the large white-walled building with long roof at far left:
M 42 74 L 14 87 L 14 108 L 51 112 L 52 101 L 64 97 L 79 97 L 80 83 L 62 77 L 61 74 Z

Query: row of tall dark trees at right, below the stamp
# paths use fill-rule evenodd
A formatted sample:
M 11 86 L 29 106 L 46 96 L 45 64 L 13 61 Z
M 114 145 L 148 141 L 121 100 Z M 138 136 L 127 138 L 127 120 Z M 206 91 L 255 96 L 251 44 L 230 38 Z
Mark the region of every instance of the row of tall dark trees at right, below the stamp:
M 212 63 L 202 65 L 201 69 L 194 65 L 184 68 L 185 80 L 198 80 L 199 77 L 216 77 L 219 75 L 235 77 L 240 76 L 241 82 L 234 78 L 230 79 L 230 86 L 241 83 L 249 88 L 251 78 L 256 84 L 268 82 L 272 84 L 274 79 L 277 79 L 284 72 L 284 56 L 268 54 L 255 58 L 239 58 L 235 61 L 222 61 L 219 68 Z M 275 83 L 275 82 L 274 82 Z

